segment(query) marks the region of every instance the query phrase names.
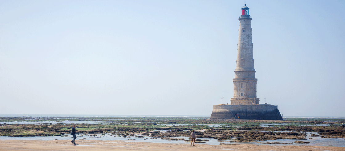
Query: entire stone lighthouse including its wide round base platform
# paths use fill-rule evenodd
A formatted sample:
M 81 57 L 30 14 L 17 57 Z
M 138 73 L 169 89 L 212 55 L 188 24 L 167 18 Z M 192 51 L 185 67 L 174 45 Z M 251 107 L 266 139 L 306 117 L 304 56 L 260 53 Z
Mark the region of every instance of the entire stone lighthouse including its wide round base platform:
M 252 17 L 249 8 L 244 5 L 239 17 L 237 60 L 234 81 L 234 98 L 231 104 L 213 105 L 210 119 L 282 120 L 277 105 L 259 104 L 256 97 L 256 83 L 253 43 Z

